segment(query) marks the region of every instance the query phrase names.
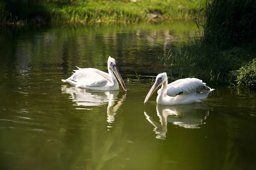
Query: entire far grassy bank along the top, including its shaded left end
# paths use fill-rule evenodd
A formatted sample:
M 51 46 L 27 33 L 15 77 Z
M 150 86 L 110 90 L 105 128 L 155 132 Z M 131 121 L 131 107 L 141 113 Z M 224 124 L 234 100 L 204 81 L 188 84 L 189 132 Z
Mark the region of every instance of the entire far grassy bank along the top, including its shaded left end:
M 203 1 L 203 2 L 202 2 Z M 138 23 L 198 17 L 206 0 L 73 0 L 0 2 L 3 24 L 99 24 Z

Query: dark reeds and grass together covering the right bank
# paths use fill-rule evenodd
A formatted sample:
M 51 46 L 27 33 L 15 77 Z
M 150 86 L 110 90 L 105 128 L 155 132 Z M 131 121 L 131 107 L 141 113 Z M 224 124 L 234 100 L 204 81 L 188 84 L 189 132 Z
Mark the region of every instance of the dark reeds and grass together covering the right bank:
M 237 70 L 255 58 L 256 1 L 213 0 L 204 10 L 206 23 L 196 20 L 198 30 L 200 26 L 204 29 L 201 39 L 172 48 L 160 60 L 173 78 L 196 76 L 216 83 L 234 83 Z M 255 79 L 251 71 L 246 72 Z M 244 78 L 239 77 L 240 84 L 252 82 Z

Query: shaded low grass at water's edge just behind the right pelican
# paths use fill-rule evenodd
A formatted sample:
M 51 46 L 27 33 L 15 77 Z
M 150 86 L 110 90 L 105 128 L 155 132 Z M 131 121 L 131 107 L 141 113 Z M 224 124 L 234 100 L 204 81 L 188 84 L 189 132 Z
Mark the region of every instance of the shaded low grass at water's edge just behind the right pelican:
M 234 71 L 239 70 L 255 57 L 255 53 L 244 47 L 221 50 L 218 45 L 200 40 L 180 48 L 172 48 L 160 63 L 173 80 L 197 77 L 214 83 L 233 83 Z

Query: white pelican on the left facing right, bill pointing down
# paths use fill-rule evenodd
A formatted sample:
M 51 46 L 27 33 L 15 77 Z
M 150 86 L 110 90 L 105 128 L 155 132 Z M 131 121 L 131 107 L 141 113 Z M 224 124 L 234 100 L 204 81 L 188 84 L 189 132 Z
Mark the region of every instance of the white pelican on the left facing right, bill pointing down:
M 112 57 L 108 57 L 108 73 L 100 71 L 96 68 L 79 68 L 74 70 L 68 79 L 62 79 L 63 82 L 69 82 L 70 85 L 74 85 L 79 88 L 87 88 L 100 91 L 114 91 L 119 90 L 119 85 L 116 80 L 119 80 L 122 88 L 126 91 L 125 82 L 123 81 L 117 67 L 116 60 Z M 114 76 L 113 72 L 116 74 Z

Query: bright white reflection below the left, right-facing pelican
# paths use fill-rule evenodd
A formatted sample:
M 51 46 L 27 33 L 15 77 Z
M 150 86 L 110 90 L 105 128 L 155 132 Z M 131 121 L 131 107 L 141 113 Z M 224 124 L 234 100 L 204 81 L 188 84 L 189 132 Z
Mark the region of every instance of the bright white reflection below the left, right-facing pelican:
M 126 93 L 118 99 L 119 91 L 91 91 L 83 88 L 76 88 L 74 86 L 62 85 L 61 91 L 64 94 L 70 94 L 70 98 L 75 102 L 77 109 L 92 110 L 90 106 L 101 106 L 108 103 L 107 108 L 107 122 L 113 123 L 115 120 L 116 111 L 122 105 L 126 98 Z

